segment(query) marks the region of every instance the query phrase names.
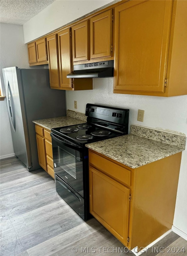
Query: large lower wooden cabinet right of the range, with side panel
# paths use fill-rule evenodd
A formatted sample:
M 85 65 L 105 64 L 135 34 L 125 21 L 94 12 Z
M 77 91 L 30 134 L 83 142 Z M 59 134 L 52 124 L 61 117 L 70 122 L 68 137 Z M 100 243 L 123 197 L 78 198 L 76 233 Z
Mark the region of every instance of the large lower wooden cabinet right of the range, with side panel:
M 89 149 L 90 213 L 130 250 L 146 247 L 172 228 L 180 162 L 132 169 Z

